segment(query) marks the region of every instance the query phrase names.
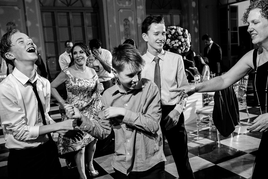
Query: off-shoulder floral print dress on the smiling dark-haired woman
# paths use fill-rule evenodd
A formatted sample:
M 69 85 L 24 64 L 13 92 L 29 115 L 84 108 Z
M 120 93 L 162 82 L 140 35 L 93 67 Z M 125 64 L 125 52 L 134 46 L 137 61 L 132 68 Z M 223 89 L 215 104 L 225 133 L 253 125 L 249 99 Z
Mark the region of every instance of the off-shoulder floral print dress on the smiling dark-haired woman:
M 88 119 L 98 121 L 98 114 L 101 110 L 101 94 L 94 87 L 98 80 L 96 74 L 91 79 L 79 79 L 73 76 L 68 69 L 63 72 L 70 78 L 66 84 L 68 98 L 66 103 L 75 104 L 75 107 Z M 62 115 L 62 120 L 67 120 L 65 114 Z M 77 127 L 78 128 L 78 127 Z M 88 145 L 94 137 L 83 131 L 83 139 L 80 141 L 72 140 L 68 137 L 59 135 L 58 137 L 58 153 L 61 158 L 67 159 L 65 154 L 69 152 L 79 151 Z

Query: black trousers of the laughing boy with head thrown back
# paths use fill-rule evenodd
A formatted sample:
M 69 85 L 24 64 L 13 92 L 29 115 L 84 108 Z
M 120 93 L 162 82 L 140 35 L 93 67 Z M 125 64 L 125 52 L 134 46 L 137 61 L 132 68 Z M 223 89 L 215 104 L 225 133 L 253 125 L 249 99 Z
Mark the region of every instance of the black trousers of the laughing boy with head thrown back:
M 8 178 L 62 178 L 57 145 L 53 141 L 29 149 L 9 149 Z

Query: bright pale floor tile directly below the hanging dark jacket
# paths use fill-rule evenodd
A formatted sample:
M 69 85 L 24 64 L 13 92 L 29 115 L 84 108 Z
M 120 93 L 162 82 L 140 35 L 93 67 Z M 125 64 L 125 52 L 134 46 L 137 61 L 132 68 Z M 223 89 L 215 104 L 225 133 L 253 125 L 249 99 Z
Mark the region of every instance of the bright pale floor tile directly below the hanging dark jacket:
M 249 153 L 258 149 L 260 139 L 240 134 L 233 138 L 221 140 L 221 144 Z

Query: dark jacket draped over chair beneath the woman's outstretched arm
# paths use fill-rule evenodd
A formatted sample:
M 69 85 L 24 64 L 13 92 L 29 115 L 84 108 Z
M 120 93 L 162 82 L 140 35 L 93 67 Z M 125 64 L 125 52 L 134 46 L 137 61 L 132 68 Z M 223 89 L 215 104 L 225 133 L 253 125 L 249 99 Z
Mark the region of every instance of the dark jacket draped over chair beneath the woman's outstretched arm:
M 228 137 L 235 130 L 239 123 L 239 108 L 232 86 L 215 92 L 212 118 L 222 136 Z

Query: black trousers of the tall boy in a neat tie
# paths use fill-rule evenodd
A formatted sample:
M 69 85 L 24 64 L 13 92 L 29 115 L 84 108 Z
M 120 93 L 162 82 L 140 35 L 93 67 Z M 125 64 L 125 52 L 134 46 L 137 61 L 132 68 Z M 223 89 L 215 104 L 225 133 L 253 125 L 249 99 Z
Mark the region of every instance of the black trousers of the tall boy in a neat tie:
M 174 162 L 177 167 L 177 171 L 180 179 L 192 179 L 195 178 L 188 157 L 188 145 L 187 145 L 187 132 L 184 126 L 184 115 L 180 114 L 179 121 L 176 126 L 169 130 L 166 130 L 165 125 L 168 120 L 163 120 L 174 109 L 175 105 L 163 105 L 162 116 L 160 120 L 160 127 L 163 134 L 163 141 L 165 138 L 168 141 L 170 151 L 172 153 Z M 165 142 L 163 144 L 163 150 L 165 149 Z

